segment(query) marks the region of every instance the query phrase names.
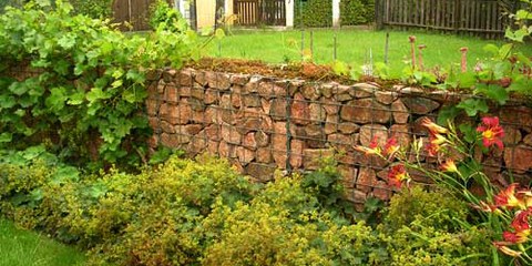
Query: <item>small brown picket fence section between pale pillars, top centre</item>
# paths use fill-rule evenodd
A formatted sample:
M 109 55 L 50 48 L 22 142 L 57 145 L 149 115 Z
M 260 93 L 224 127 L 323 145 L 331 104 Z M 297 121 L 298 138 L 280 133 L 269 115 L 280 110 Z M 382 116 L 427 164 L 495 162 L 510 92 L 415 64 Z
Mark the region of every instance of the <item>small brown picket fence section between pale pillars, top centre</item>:
M 285 0 L 234 0 L 238 25 L 285 25 Z

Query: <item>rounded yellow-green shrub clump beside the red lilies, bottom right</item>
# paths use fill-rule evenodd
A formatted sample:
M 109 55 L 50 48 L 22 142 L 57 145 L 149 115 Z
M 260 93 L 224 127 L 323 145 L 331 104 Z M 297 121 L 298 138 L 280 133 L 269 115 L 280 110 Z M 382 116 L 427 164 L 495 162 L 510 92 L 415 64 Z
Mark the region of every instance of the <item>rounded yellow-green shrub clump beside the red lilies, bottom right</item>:
M 379 225 L 391 265 L 490 265 L 490 234 L 468 224 L 468 205 L 420 186 L 396 194 Z

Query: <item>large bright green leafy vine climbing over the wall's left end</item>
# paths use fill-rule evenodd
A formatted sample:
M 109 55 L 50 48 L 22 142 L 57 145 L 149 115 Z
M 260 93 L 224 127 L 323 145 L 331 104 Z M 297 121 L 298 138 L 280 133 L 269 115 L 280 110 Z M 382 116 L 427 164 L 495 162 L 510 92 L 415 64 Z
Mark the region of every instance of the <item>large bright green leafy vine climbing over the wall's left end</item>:
M 43 142 L 82 164 L 139 164 L 151 133 L 142 112 L 145 71 L 178 68 L 194 33 L 125 37 L 109 22 L 72 16 L 69 3 L 54 6 L 30 2 L 0 17 L 0 143 Z M 12 78 L 19 65 L 27 79 Z

